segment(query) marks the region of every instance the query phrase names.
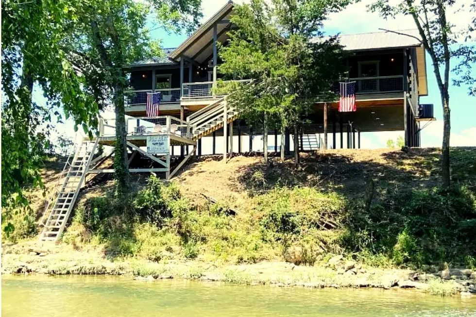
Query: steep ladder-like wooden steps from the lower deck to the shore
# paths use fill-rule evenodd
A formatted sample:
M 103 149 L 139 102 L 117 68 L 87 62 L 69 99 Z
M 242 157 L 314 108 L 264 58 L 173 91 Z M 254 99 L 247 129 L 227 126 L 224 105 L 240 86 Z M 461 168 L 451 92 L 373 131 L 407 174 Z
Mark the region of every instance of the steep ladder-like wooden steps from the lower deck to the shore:
M 66 162 L 65 169 L 68 168 L 68 173 L 40 234 L 41 241 L 57 241 L 65 230 L 66 222 L 85 180 L 98 142 L 99 138 L 96 138 L 95 141 L 84 139 L 71 163 L 69 163 L 69 160 Z

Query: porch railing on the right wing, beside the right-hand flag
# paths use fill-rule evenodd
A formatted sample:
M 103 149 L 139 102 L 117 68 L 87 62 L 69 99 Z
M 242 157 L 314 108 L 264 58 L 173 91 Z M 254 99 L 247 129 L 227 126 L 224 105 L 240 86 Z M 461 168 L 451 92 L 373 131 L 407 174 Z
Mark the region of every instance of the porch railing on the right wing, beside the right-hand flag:
M 403 91 L 403 75 L 349 78 L 356 82 L 356 94 Z

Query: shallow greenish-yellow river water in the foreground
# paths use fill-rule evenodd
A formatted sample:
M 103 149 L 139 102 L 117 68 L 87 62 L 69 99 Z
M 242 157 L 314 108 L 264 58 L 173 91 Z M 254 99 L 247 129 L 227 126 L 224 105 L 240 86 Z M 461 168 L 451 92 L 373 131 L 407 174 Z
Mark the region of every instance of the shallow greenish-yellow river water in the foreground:
M 126 277 L 2 276 L 2 316 L 476 316 L 476 300 L 415 291 L 237 286 Z

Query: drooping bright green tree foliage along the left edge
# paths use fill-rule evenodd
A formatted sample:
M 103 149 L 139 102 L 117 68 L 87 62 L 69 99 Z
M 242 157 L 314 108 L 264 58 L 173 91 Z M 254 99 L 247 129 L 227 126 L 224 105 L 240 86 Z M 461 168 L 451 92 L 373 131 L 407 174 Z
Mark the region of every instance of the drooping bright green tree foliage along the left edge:
M 38 168 L 55 117 L 72 117 L 92 135 L 98 107 L 83 90 L 85 78 L 75 71 L 63 36 L 77 21 L 75 3 L 67 0 L 1 2 L 1 203 L 26 206 L 22 188 L 42 186 Z M 34 84 L 48 100 L 33 100 Z

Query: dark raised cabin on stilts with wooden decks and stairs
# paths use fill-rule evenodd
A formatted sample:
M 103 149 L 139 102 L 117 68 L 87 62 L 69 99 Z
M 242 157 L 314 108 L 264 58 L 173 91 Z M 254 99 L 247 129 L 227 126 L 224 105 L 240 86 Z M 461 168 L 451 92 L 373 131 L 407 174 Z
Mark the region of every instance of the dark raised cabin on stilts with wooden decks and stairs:
M 217 43 L 228 38 L 233 10 L 230 1 L 179 47 L 166 49 L 165 56 L 125 66 L 132 86 L 124 96 L 130 172 L 156 172 L 170 179 L 193 154 L 222 154 L 226 160 L 236 152 L 262 151 L 264 135 L 271 141 L 268 150 L 288 154 L 294 150 L 288 130 L 284 149 L 280 149 L 276 129 L 248 126 L 220 89 L 215 89 L 227 84 L 218 81 Z M 420 122 L 434 118 L 433 105 L 419 102 L 428 88 L 425 48 L 418 32 L 341 35 L 340 43 L 349 52 L 346 81 L 355 82 L 357 111 L 339 112 L 337 101 L 316 103 L 308 116 L 310 124 L 300 131 L 300 150 L 360 148 L 361 132 L 381 131 L 405 131 L 405 145 L 420 146 Z M 161 93 L 159 112 L 147 116 L 147 94 L 153 92 Z M 114 172 L 101 168 L 113 154 L 114 120 L 102 118 L 99 136 L 85 138 L 68 159 L 65 181 L 40 240 L 60 237 L 86 174 Z M 331 140 L 327 140 L 329 135 Z M 99 156 L 95 155 L 98 145 L 104 146 Z

